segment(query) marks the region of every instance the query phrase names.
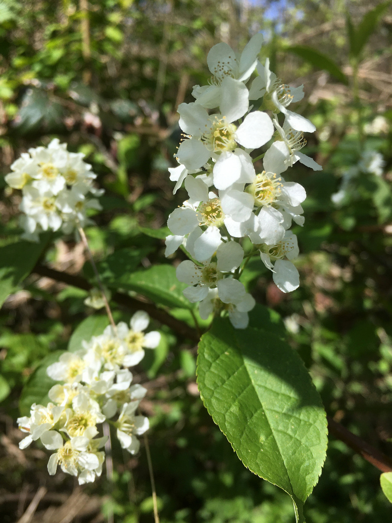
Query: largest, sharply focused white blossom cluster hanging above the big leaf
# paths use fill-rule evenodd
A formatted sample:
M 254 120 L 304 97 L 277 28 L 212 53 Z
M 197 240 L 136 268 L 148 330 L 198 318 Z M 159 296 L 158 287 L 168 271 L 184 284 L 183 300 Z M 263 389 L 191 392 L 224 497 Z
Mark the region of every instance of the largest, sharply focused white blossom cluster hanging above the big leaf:
M 281 174 L 297 161 L 321 169 L 301 152 L 303 133 L 314 132 L 314 125 L 287 109 L 304 97 L 303 85 L 284 84 L 270 71 L 268 59 L 260 63 L 262 40 L 260 33 L 253 36 L 240 56 L 225 43 L 210 50 L 209 85 L 194 86 L 195 101 L 178 107 L 185 139 L 178 167 L 169 169 L 174 193 L 184 182 L 189 198 L 169 216 L 166 256 L 184 246 L 195 261 L 177 268 L 178 279 L 189 285 L 184 294 L 200 302 L 203 318 L 225 309 L 237 328 L 247 326 L 255 305 L 238 281 L 250 255 L 260 255 L 283 292 L 298 287 L 292 263 L 298 246 L 290 226 L 304 223 L 306 193 Z M 253 163 L 262 146 L 263 168 L 256 171 Z M 246 237 L 253 248 L 244 253 Z

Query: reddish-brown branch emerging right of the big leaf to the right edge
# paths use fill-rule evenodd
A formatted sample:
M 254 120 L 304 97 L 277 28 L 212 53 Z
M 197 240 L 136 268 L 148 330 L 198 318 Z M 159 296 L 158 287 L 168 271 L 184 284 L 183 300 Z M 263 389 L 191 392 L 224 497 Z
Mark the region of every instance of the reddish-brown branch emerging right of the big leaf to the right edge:
M 360 454 L 363 459 L 372 463 L 374 467 L 381 472 L 392 472 L 392 459 L 385 456 L 385 454 L 372 445 L 369 445 L 359 436 L 355 436 L 350 430 L 344 428 L 343 425 L 337 423 L 330 416 L 328 419 L 328 430 L 330 434 L 333 434 L 337 439 L 340 439 L 348 447 L 354 450 L 357 454 Z

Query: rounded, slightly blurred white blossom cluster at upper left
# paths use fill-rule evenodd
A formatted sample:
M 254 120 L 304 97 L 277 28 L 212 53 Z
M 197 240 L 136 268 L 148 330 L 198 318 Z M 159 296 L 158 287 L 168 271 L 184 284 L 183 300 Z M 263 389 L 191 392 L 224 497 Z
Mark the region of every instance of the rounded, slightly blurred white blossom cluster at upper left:
M 12 172 L 5 180 L 22 191 L 22 237 L 38 241 L 42 231 L 62 229 L 67 234 L 77 224 L 83 227 L 92 223 L 87 210 L 100 210 L 101 206 L 90 195 L 101 196 L 103 189 L 93 187 L 97 175 L 83 158 L 83 153 L 68 152 L 67 144 L 55 138 L 48 147 L 22 153 L 11 165 Z

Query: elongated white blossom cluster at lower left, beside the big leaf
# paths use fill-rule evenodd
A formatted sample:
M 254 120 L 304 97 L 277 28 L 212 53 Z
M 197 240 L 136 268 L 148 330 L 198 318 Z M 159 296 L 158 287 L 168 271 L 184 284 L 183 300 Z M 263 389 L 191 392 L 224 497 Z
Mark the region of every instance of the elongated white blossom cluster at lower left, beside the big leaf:
M 79 484 L 100 476 L 105 452 L 99 449 L 107 437 L 97 437 L 97 425 L 103 422 L 117 429 L 123 449 L 131 454 L 139 450 L 137 436 L 149 423 L 148 418 L 135 413 L 146 389 L 132 384 L 132 373 L 126 367 L 142 360 L 144 348 L 159 344 L 159 332 L 144 333 L 148 323 L 147 313 L 136 312 L 130 327 L 124 322 L 116 331 L 108 326 L 102 335 L 83 342 L 82 349 L 64 353 L 48 367 L 48 376 L 62 384 L 50 389 L 47 406 L 34 403 L 30 416 L 18 418 L 18 424 L 28 433 L 20 441 L 21 449 L 40 439 L 44 447 L 54 451 L 48 462 L 50 475 L 60 465 L 67 474 L 77 476 Z

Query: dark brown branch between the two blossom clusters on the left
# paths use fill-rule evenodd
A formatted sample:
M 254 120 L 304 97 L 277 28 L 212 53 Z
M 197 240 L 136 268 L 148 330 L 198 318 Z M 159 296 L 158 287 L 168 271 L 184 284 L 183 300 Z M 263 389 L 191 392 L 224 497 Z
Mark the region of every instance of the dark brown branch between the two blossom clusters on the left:
M 37 264 L 33 268 L 32 272 L 35 272 L 35 274 L 38 274 L 39 276 L 51 278 L 55 281 L 62 281 L 67 285 L 72 285 L 73 287 L 78 287 L 79 289 L 86 291 L 89 291 L 93 288 L 93 285 L 91 285 L 85 278 L 82 278 L 81 276 L 76 276 L 67 272 L 52 269 L 45 265 Z M 196 342 L 198 342 L 200 339 L 195 329 L 187 325 L 185 322 L 177 320 L 163 309 L 158 309 L 158 307 L 153 303 L 137 300 L 136 298 L 132 298 L 123 292 L 114 292 L 112 295 L 112 300 L 128 309 L 146 311 L 147 314 L 149 314 L 152 318 L 172 328 L 174 331 L 185 338 L 190 338 Z

